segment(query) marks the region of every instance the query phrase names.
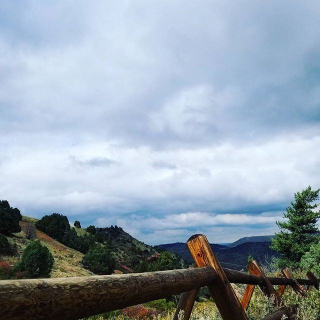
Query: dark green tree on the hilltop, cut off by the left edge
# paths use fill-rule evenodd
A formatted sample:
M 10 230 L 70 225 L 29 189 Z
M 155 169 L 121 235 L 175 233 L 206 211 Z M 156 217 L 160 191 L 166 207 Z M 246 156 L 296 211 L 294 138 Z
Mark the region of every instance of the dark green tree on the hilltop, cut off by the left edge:
M 21 218 L 19 209 L 12 209 L 7 200 L 0 200 L 0 233 L 20 232 Z

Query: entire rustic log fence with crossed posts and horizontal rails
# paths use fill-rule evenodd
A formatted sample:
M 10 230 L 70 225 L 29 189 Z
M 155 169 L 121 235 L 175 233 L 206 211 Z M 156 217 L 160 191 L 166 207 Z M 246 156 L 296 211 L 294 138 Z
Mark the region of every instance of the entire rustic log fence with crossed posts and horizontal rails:
M 281 300 L 285 286 L 306 296 L 312 286 L 319 288 L 318 279 L 307 273 L 307 279 L 295 279 L 288 268 L 284 277 L 267 277 L 257 262 L 248 264 L 250 273 L 222 268 L 204 235 L 191 236 L 186 243 L 195 262 L 195 268 L 115 274 L 88 277 L 1 280 L 1 319 L 79 319 L 117 310 L 127 306 L 179 294 L 180 299 L 173 317 L 183 310 L 188 320 L 198 289 L 207 286 L 223 320 L 247 320 L 246 309 L 255 285 L 272 297 L 280 310 L 263 320 L 281 319 L 285 314 L 294 319 L 296 305 L 284 306 Z M 247 284 L 242 300 L 234 293 L 230 283 Z M 280 285 L 276 291 L 273 285 Z

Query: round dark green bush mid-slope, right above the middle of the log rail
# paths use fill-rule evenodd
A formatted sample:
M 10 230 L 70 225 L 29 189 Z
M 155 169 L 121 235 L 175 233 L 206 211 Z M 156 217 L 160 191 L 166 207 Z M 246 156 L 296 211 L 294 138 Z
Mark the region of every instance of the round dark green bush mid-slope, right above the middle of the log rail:
M 96 274 L 111 274 L 115 268 L 115 259 L 110 250 L 97 245 L 84 254 L 82 263 Z

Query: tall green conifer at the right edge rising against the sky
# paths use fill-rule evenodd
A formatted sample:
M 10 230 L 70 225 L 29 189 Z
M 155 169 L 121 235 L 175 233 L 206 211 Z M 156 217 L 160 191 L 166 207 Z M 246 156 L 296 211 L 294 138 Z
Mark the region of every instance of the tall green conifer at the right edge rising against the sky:
M 291 201 L 283 213 L 287 221 L 276 221 L 280 229 L 287 230 L 281 230 L 272 239 L 271 248 L 282 254 L 278 259 L 279 266 L 297 266 L 310 245 L 319 240 L 316 222 L 320 210 L 314 210 L 317 204 L 310 204 L 319 198 L 319 191 L 308 186 L 294 193 L 295 201 Z

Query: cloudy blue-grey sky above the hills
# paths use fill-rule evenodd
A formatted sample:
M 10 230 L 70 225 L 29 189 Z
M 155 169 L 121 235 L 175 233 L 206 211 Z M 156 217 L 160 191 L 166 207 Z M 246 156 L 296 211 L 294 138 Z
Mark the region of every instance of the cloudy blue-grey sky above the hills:
M 320 187 L 320 2 L 0 1 L 0 199 L 148 244 L 273 234 Z

